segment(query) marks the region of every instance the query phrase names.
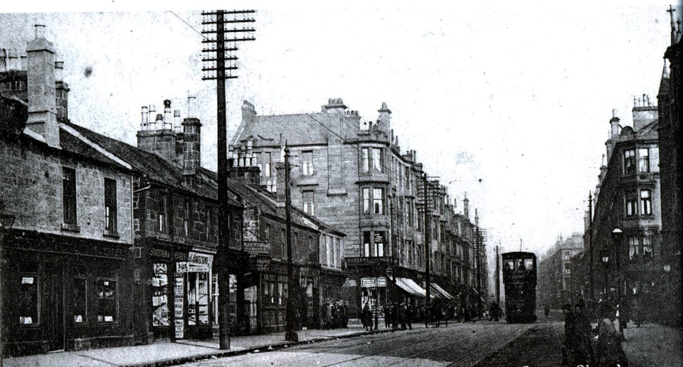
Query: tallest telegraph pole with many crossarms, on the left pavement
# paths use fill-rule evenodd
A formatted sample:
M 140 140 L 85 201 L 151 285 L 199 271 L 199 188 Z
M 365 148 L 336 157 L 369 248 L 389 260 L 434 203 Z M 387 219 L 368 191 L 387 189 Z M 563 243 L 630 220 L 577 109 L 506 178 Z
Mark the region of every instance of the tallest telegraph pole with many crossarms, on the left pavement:
M 243 38 L 226 38 L 226 33 L 244 32 L 252 33 L 253 28 L 229 28 L 226 23 L 253 23 L 253 18 L 247 18 L 248 14 L 253 14 L 254 10 L 235 10 L 235 11 L 203 11 L 201 15 L 205 17 L 202 25 L 205 29 L 202 34 L 208 34 L 202 43 L 211 44 L 211 47 L 203 49 L 203 53 L 208 53 L 207 58 L 202 58 L 203 62 L 208 62 L 208 66 L 201 70 L 206 72 L 202 80 L 216 80 L 216 96 L 218 105 L 218 248 L 216 258 L 218 262 L 218 340 L 220 349 L 230 349 L 230 272 L 228 271 L 228 241 L 231 238 L 230 214 L 228 213 L 228 137 L 227 137 L 227 117 L 226 117 L 226 79 L 237 78 L 232 70 L 237 70 L 233 61 L 237 60 L 232 55 L 232 51 L 237 50 L 235 43 L 241 41 L 254 41 L 253 36 Z M 232 18 L 226 20 L 226 14 Z M 238 18 L 240 16 L 240 18 Z M 215 26 L 215 29 L 213 28 Z M 211 35 L 216 36 L 214 39 Z M 227 54 L 226 54 L 227 53 Z M 228 65 L 226 65 L 228 61 Z M 227 74 L 226 74 L 227 72 Z

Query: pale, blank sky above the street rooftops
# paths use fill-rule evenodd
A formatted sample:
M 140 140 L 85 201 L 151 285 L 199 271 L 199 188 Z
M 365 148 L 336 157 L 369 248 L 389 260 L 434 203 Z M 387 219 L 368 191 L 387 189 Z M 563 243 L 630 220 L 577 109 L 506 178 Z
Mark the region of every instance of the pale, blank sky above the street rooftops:
M 232 3 L 257 12 L 256 40 L 240 43 L 239 78 L 228 81 L 228 141 L 243 100 L 279 115 L 342 97 L 362 121 L 386 102 L 401 149 L 417 151 L 457 211 L 466 193 L 489 248 L 540 254 L 583 232 L 613 109 L 631 125 L 634 95 L 656 101 L 668 4 L 396 4 Z M 142 106 L 161 113 L 169 99 L 187 117 L 196 97 L 202 165 L 215 170 L 216 83 L 201 80 L 199 32 L 200 12 L 217 6 L 4 5 L 0 48 L 24 49 L 45 24 L 65 62 L 71 121 L 129 144 Z

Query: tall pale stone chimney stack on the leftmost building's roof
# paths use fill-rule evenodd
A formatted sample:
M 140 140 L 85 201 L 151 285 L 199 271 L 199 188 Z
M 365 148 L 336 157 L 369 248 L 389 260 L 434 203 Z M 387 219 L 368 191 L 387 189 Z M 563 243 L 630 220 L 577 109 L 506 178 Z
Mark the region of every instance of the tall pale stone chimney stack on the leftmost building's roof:
M 50 147 L 59 148 L 55 100 L 55 46 L 45 39 L 45 26 L 36 24 L 36 38 L 28 41 L 28 122 Z

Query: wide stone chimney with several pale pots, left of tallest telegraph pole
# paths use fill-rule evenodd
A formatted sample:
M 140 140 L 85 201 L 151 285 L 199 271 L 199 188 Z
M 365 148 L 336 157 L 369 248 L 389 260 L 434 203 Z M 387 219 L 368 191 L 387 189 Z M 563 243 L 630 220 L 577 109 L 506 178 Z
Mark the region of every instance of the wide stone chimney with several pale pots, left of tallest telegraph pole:
M 136 134 L 137 147 L 149 151 L 149 153 L 157 154 L 157 156 L 171 163 L 177 163 L 176 132 L 173 130 L 173 122 L 171 121 L 171 101 L 164 100 L 164 115 L 167 115 L 167 121 L 164 120 L 164 115 L 159 114 L 154 123 L 148 123 L 147 114 L 154 112 L 154 107 L 150 106 L 149 112 L 146 108 L 142 107 L 142 124 Z

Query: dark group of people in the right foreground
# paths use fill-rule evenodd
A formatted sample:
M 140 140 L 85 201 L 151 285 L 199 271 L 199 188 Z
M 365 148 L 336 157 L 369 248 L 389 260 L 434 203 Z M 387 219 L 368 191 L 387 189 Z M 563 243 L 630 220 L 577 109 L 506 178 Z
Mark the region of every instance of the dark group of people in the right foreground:
M 628 367 L 621 347 L 622 336 L 614 326 L 615 307 L 608 300 L 596 307 L 598 326 L 595 329 L 583 300 L 573 307 L 571 304 L 562 307 L 565 334 L 561 345 L 562 366 Z

